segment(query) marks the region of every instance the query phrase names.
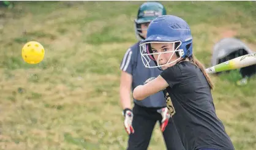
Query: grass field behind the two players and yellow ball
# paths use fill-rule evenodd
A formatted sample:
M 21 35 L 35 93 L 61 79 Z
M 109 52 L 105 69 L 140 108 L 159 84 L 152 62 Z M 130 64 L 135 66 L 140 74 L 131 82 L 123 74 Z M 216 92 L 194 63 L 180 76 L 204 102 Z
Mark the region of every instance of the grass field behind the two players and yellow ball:
M 206 67 L 222 37 L 235 36 L 256 49 L 256 3 L 162 2 L 183 17 L 194 51 Z M 0 149 L 125 149 L 119 105 L 119 63 L 134 44 L 133 20 L 141 1 L 16 2 L 0 8 Z M 25 64 L 29 40 L 45 47 L 38 65 Z M 219 118 L 238 150 L 256 149 L 255 84 L 237 87 L 237 72 L 212 76 Z M 149 149 L 165 149 L 159 127 Z

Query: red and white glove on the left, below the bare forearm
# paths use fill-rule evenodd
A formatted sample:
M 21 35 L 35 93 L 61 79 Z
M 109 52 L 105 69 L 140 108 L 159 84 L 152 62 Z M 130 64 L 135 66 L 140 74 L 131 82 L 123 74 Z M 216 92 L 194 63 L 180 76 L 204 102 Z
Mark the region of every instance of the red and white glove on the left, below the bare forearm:
M 122 111 L 124 115 L 124 127 L 126 132 L 130 135 L 130 133 L 134 133 L 134 127 L 132 127 L 132 119 L 134 118 L 134 113 L 129 108 L 126 108 Z

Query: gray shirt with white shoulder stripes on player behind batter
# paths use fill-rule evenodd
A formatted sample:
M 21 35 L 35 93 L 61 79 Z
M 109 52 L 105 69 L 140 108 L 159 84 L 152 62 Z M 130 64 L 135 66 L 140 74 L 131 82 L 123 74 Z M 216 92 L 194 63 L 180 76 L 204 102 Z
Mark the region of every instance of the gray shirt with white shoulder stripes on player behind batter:
M 120 69 L 132 75 L 132 91 L 136 86 L 144 84 L 147 80 L 152 80 L 160 75 L 158 68 L 146 68 L 141 60 L 140 47 L 137 42 L 130 47 L 122 58 Z M 155 65 L 151 61 L 152 65 Z M 136 100 L 134 103 L 142 107 L 166 107 L 165 97 L 162 91 L 147 97 L 145 100 Z

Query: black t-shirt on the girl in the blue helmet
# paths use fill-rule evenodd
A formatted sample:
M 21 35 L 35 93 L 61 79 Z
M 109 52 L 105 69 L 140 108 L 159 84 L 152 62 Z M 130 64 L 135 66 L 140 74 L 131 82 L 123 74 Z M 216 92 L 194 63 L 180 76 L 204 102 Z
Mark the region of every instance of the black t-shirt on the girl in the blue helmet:
M 169 84 L 164 90 L 167 107 L 185 149 L 235 149 L 216 116 L 211 89 L 198 67 L 183 61 L 160 75 Z

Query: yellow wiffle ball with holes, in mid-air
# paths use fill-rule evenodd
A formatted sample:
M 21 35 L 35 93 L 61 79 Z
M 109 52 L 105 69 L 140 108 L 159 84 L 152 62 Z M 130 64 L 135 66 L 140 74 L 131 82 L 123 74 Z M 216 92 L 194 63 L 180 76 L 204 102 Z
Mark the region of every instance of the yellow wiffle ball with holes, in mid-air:
M 39 42 L 31 41 L 23 46 L 21 56 L 28 64 L 38 64 L 45 57 L 45 49 Z

